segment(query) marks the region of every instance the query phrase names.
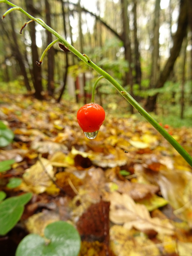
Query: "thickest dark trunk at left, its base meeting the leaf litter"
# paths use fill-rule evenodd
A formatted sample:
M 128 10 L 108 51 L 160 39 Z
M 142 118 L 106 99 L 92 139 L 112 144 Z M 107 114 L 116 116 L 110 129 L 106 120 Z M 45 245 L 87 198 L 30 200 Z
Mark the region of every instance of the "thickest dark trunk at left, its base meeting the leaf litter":
M 32 16 L 36 16 L 35 8 L 33 7 L 33 0 L 25 0 L 27 12 L 30 13 Z M 32 6 L 32 8 L 31 8 Z M 33 63 L 33 85 L 35 88 L 35 97 L 38 100 L 42 100 L 43 96 L 41 92 L 43 91 L 42 87 L 42 77 L 41 77 L 41 67 L 36 65 L 36 61 L 39 60 L 38 50 L 36 45 L 36 30 L 35 30 L 35 22 L 30 22 L 29 26 L 29 33 L 31 37 L 31 51 L 32 51 L 32 63 Z

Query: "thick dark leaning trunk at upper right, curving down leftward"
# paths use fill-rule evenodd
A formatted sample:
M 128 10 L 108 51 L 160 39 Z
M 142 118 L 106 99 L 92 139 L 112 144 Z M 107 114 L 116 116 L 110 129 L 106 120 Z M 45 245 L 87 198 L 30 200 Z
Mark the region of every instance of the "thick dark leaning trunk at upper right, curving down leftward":
M 164 83 L 167 81 L 170 72 L 173 69 L 175 60 L 177 59 L 181 45 L 183 42 L 183 38 L 186 36 L 187 33 L 187 25 L 188 25 L 188 16 L 187 16 L 187 0 L 180 0 L 180 13 L 178 18 L 178 26 L 177 32 L 173 36 L 173 47 L 170 50 L 170 57 L 168 58 L 166 64 L 164 65 L 163 70 L 160 73 L 159 78 L 155 84 L 155 88 L 163 87 Z M 148 97 L 145 109 L 149 112 L 156 110 L 156 99 L 158 93 L 152 97 Z

